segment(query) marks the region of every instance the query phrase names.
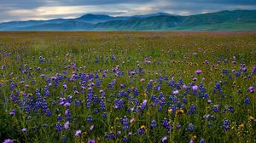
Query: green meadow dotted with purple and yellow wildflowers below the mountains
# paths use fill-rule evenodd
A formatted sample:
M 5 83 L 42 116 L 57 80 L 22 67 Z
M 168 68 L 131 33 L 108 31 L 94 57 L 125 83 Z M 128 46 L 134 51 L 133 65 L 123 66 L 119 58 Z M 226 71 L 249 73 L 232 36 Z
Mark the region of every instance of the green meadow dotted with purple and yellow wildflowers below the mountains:
M 256 32 L 0 32 L 0 142 L 256 142 Z

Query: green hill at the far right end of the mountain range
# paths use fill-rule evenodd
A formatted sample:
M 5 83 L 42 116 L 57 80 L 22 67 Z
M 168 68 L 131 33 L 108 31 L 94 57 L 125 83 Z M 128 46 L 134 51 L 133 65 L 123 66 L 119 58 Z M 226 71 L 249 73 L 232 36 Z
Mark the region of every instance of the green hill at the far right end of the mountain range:
M 254 27 L 245 27 L 248 25 Z M 175 28 L 177 30 L 236 30 L 237 28 L 237 30 L 256 30 L 256 10 L 226 10 L 217 13 L 190 15 L 184 17 L 183 22 Z

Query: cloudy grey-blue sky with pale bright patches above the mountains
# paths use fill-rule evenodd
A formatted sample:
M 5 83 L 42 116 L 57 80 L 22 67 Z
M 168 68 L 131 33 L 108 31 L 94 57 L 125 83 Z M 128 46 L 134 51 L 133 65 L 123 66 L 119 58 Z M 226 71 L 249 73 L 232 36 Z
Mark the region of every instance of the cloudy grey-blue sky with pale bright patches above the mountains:
M 88 13 L 189 15 L 232 9 L 256 9 L 256 0 L 0 0 L 0 22 L 74 18 Z

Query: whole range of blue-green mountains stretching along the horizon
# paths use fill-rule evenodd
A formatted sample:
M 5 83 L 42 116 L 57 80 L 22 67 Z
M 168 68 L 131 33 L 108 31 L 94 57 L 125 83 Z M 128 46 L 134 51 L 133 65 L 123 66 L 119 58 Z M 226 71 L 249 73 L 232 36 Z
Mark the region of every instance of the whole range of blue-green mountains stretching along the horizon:
M 0 23 L 0 31 L 255 31 L 256 10 L 220 11 L 181 16 L 84 14 L 75 19 Z

